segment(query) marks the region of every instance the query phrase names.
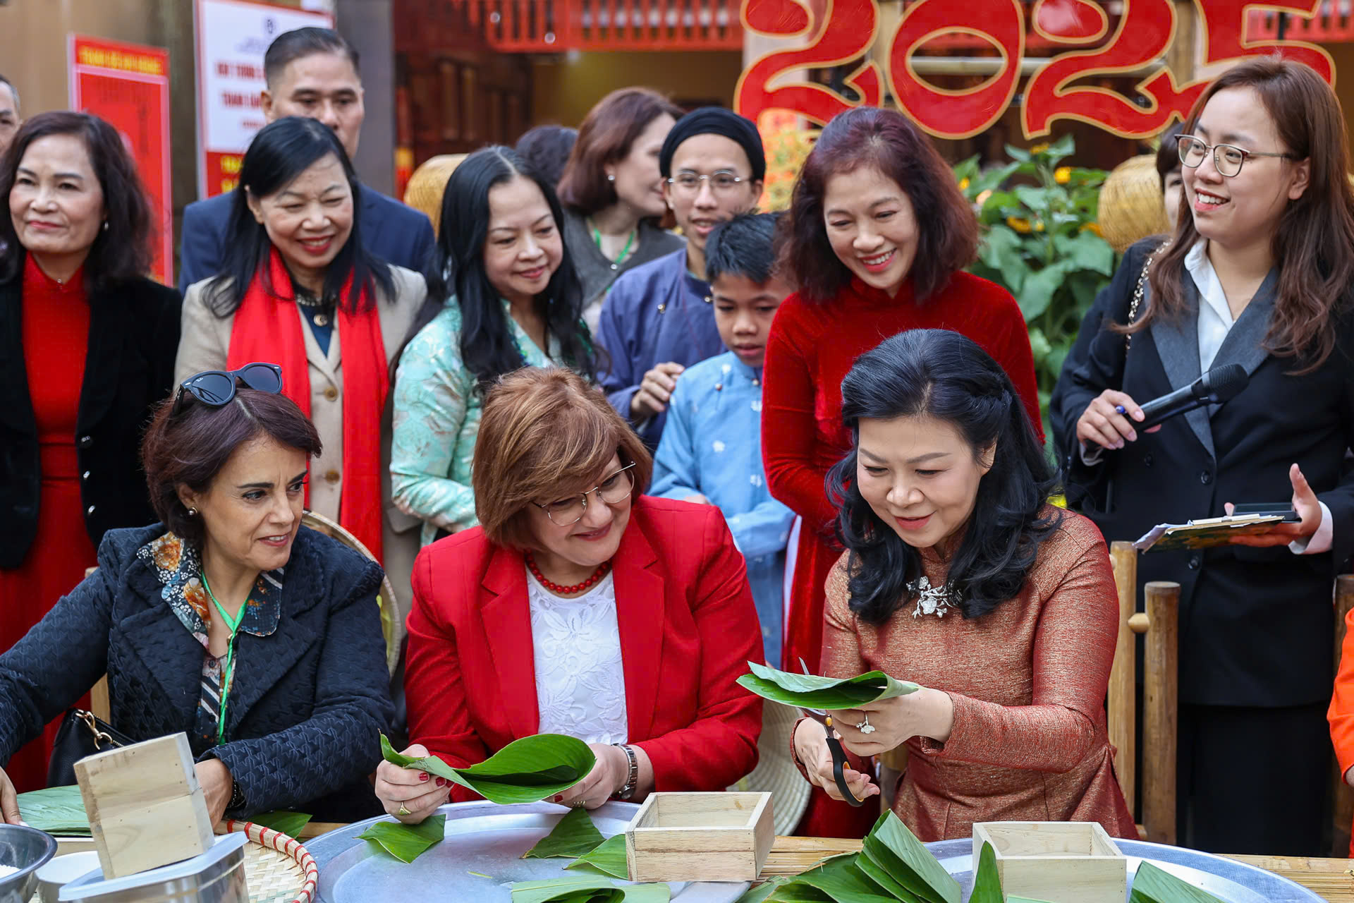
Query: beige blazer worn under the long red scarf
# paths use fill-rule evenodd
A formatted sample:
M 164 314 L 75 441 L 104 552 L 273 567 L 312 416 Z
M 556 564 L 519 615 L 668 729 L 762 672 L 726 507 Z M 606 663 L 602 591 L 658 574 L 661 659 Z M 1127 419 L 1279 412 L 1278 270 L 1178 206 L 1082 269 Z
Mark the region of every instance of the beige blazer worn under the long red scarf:
M 428 294 L 428 286 L 421 275 L 403 267 L 391 267 L 390 272 L 395 282 L 394 303 L 387 298 L 376 302 L 387 364 L 399 352 L 405 333 L 413 325 L 414 315 Z M 221 318 L 207 309 L 204 292 L 209 282 L 204 279 L 190 286 L 183 301 L 183 332 L 179 338 L 179 355 L 175 359 L 175 384 L 204 370 L 226 368 L 234 315 Z M 324 452 L 310 462 L 310 509 L 337 521 L 343 489 L 343 336 L 338 333 L 338 324 L 334 322 L 329 353 L 324 355 L 299 307 L 297 317 L 302 320 L 301 332 L 305 336 L 306 360 L 310 364 L 310 420 L 314 421 L 324 445 Z M 387 401 L 380 422 L 380 494 L 386 514 L 382 536 L 383 565 L 395 589 L 399 623 L 403 624 L 409 604 L 413 601 L 409 578 L 413 573 L 414 555 L 418 554 L 416 528 L 421 521 L 402 513 L 390 501 L 390 433 Z

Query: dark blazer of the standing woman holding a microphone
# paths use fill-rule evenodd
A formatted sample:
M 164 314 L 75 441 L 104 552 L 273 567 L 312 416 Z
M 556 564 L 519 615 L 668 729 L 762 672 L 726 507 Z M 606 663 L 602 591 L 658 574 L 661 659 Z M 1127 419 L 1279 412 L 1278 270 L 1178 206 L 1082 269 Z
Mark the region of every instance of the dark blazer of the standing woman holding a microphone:
M 1143 403 L 1200 376 L 1198 298 L 1193 309 L 1133 336 L 1109 322 L 1128 311 L 1147 253 L 1139 242 L 1124 256 L 1109 292 L 1087 315 L 1082 352 L 1070 356 L 1051 403 L 1064 449 L 1068 501 L 1101 528 L 1106 542 L 1135 540 L 1155 524 L 1220 517 L 1224 502 L 1288 502 L 1294 462 L 1334 520 L 1330 552 L 1294 555 L 1286 547 L 1220 546 L 1152 551 L 1139 559 L 1147 581 L 1181 585 L 1179 700 L 1200 705 L 1305 705 L 1330 700 L 1331 585 L 1354 551 L 1354 475 L 1345 449 L 1354 445 L 1354 317 L 1332 320 L 1335 351 L 1297 375 L 1292 357 L 1263 348 L 1274 310 L 1277 271 L 1247 305 L 1217 351 L 1213 367 L 1236 363 L 1250 383 L 1231 401 L 1173 417 L 1160 432 L 1109 451 L 1094 466 L 1078 455 L 1076 420 L 1105 389 Z M 1147 290 L 1144 307 L 1151 301 Z M 1094 318 L 1102 322 L 1097 328 Z

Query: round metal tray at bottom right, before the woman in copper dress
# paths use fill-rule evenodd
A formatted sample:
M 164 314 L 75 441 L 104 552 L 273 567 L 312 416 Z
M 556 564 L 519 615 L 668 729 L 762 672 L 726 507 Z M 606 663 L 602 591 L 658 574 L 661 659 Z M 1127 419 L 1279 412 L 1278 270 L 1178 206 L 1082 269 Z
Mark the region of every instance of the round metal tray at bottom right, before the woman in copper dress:
M 1301 884 L 1236 860 L 1145 841 L 1116 838 L 1114 842 L 1128 858 L 1129 888 L 1133 887 L 1139 862 L 1147 860 L 1225 903 L 1324 903 Z M 936 841 L 927 843 L 926 849 L 955 876 L 967 899 L 974 885 L 974 841 Z

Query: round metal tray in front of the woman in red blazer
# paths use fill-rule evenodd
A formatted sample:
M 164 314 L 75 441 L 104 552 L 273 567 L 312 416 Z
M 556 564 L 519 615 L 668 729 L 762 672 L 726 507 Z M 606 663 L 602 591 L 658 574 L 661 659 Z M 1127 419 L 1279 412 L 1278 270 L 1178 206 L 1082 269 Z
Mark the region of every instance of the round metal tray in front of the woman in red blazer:
M 634 803 L 607 803 L 590 815 L 597 830 L 611 837 L 621 834 L 636 811 L 639 807 Z M 452 803 L 437 812 L 447 816 L 447 839 L 408 865 L 372 849 L 375 843 L 357 839 L 371 824 L 393 820 L 389 818 L 355 822 L 306 841 L 306 849 L 320 865 L 320 900 L 509 903 L 513 881 L 584 875 L 565 871 L 571 860 L 521 858 L 563 818 L 567 810 L 562 806 Z M 670 887 L 676 903 L 733 903 L 747 889 L 747 883 L 673 883 Z

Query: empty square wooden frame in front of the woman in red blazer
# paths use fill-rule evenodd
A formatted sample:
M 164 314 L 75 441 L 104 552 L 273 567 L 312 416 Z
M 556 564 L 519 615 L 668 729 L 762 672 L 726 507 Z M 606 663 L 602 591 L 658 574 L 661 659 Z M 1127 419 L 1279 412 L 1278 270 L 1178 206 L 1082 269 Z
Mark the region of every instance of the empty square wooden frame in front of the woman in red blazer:
M 650 793 L 626 862 L 631 881 L 754 881 L 774 839 L 770 793 Z

